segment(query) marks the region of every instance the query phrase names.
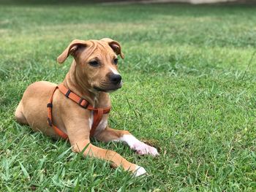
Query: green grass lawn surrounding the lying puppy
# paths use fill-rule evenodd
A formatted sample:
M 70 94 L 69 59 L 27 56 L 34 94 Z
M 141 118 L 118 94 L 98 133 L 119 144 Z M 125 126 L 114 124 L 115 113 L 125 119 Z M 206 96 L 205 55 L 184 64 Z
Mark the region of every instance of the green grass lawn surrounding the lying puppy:
M 0 6 L 0 191 L 255 191 L 256 7 L 152 5 Z M 15 122 L 31 82 L 61 82 L 72 39 L 121 42 L 121 90 L 111 94 L 110 126 L 160 150 L 140 157 L 132 177 L 72 153 Z M 46 108 L 45 108 L 46 110 Z

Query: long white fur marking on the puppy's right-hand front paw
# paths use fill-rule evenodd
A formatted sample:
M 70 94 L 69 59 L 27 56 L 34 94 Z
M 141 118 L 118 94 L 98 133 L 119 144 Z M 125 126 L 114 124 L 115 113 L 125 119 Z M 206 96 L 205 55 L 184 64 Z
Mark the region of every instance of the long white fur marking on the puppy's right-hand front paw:
M 151 147 L 146 145 L 146 143 L 140 142 L 140 140 L 136 139 L 132 134 L 124 134 L 123 137 L 120 137 L 117 140 L 126 142 L 132 150 L 135 150 L 140 155 L 159 155 L 155 147 Z

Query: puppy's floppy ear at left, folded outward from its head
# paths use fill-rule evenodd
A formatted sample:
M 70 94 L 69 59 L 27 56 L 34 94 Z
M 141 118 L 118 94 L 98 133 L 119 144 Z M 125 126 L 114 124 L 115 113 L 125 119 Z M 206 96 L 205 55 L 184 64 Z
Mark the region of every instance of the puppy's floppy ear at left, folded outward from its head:
M 69 55 L 75 55 L 75 51 L 78 50 L 80 45 L 86 46 L 87 42 L 84 40 L 75 39 L 67 46 L 67 48 L 59 55 L 57 61 L 59 64 L 63 64 Z

